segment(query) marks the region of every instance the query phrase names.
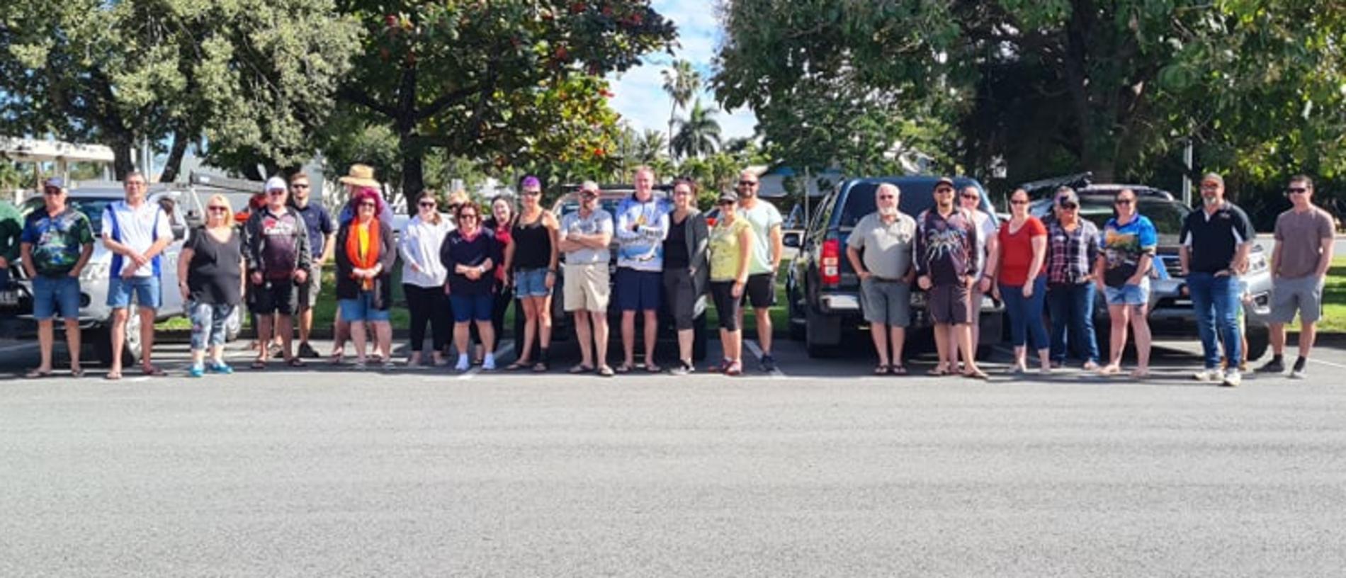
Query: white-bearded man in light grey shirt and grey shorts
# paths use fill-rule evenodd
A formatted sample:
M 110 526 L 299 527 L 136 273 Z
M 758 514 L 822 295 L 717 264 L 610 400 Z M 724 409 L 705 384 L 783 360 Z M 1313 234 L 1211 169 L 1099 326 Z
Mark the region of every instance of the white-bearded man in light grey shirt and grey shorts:
M 878 210 L 860 218 L 851 229 L 845 256 L 860 278 L 860 303 L 870 337 L 879 353 L 876 375 L 902 375 L 902 346 L 911 325 L 911 248 L 917 222 L 898 210 L 900 191 L 883 183 L 874 191 Z M 892 357 L 888 357 L 888 348 Z

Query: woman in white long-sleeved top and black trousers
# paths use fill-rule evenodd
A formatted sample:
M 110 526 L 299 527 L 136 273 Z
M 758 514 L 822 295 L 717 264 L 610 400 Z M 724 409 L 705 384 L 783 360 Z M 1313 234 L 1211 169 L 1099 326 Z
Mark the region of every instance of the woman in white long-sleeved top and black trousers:
M 440 352 L 448 342 L 448 302 L 444 299 L 444 282 L 448 272 L 439 263 L 439 248 L 452 229 L 447 218 L 439 214 L 435 193 L 425 190 L 416 199 L 416 216 L 406 224 L 398 249 L 402 255 L 402 295 L 411 313 L 412 354 L 406 365 L 421 365 L 421 349 L 425 345 L 425 325 L 431 326 L 431 356 L 435 365 L 444 364 Z

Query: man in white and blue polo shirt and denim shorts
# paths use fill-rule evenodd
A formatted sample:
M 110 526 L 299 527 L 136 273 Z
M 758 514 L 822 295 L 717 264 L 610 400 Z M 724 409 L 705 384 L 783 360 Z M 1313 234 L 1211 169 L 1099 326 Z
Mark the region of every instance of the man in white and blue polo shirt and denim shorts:
M 147 376 L 163 376 L 149 362 L 155 346 L 155 311 L 163 303 L 159 283 L 160 253 L 172 243 L 168 216 L 159 205 L 145 201 L 145 175 L 131 172 L 122 182 L 127 199 L 102 212 L 102 245 L 112 252 L 108 307 L 112 307 L 112 371 L 109 380 L 121 379 L 121 348 L 127 341 L 127 307 L 135 295 L 140 315 L 140 368 Z

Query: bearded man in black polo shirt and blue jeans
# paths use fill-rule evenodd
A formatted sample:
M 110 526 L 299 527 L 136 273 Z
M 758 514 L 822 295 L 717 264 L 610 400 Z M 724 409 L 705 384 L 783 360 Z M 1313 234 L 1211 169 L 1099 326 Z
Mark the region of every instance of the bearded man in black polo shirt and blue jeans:
M 1206 356 L 1206 368 L 1195 375 L 1199 381 L 1215 381 L 1234 387 L 1242 381 L 1238 362 L 1242 361 L 1242 335 L 1237 314 L 1240 302 L 1238 275 L 1248 268 L 1248 252 L 1256 232 L 1248 214 L 1225 201 L 1225 179 L 1214 172 L 1201 179 L 1199 210 L 1183 220 L 1178 253 L 1182 274 L 1187 278 L 1191 306 L 1197 315 L 1197 333 Z M 1229 353 L 1229 372 L 1219 369 L 1219 340 Z

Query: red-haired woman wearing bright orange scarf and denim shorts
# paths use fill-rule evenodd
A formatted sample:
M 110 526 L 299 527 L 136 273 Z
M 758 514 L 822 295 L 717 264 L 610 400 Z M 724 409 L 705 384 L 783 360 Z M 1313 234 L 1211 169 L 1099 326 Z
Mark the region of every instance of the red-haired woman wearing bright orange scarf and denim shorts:
M 336 298 L 342 319 L 350 322 L 357 369 L 365 368 L 365 323 L 374 326 L 384 366 L 392 365 L 393 327 L 388 319 L 397 248 L 392 228 L 378 221 L 382 203 L 377 190 L 361 189 L 353 201 L 355 218 L 336 233 Z

